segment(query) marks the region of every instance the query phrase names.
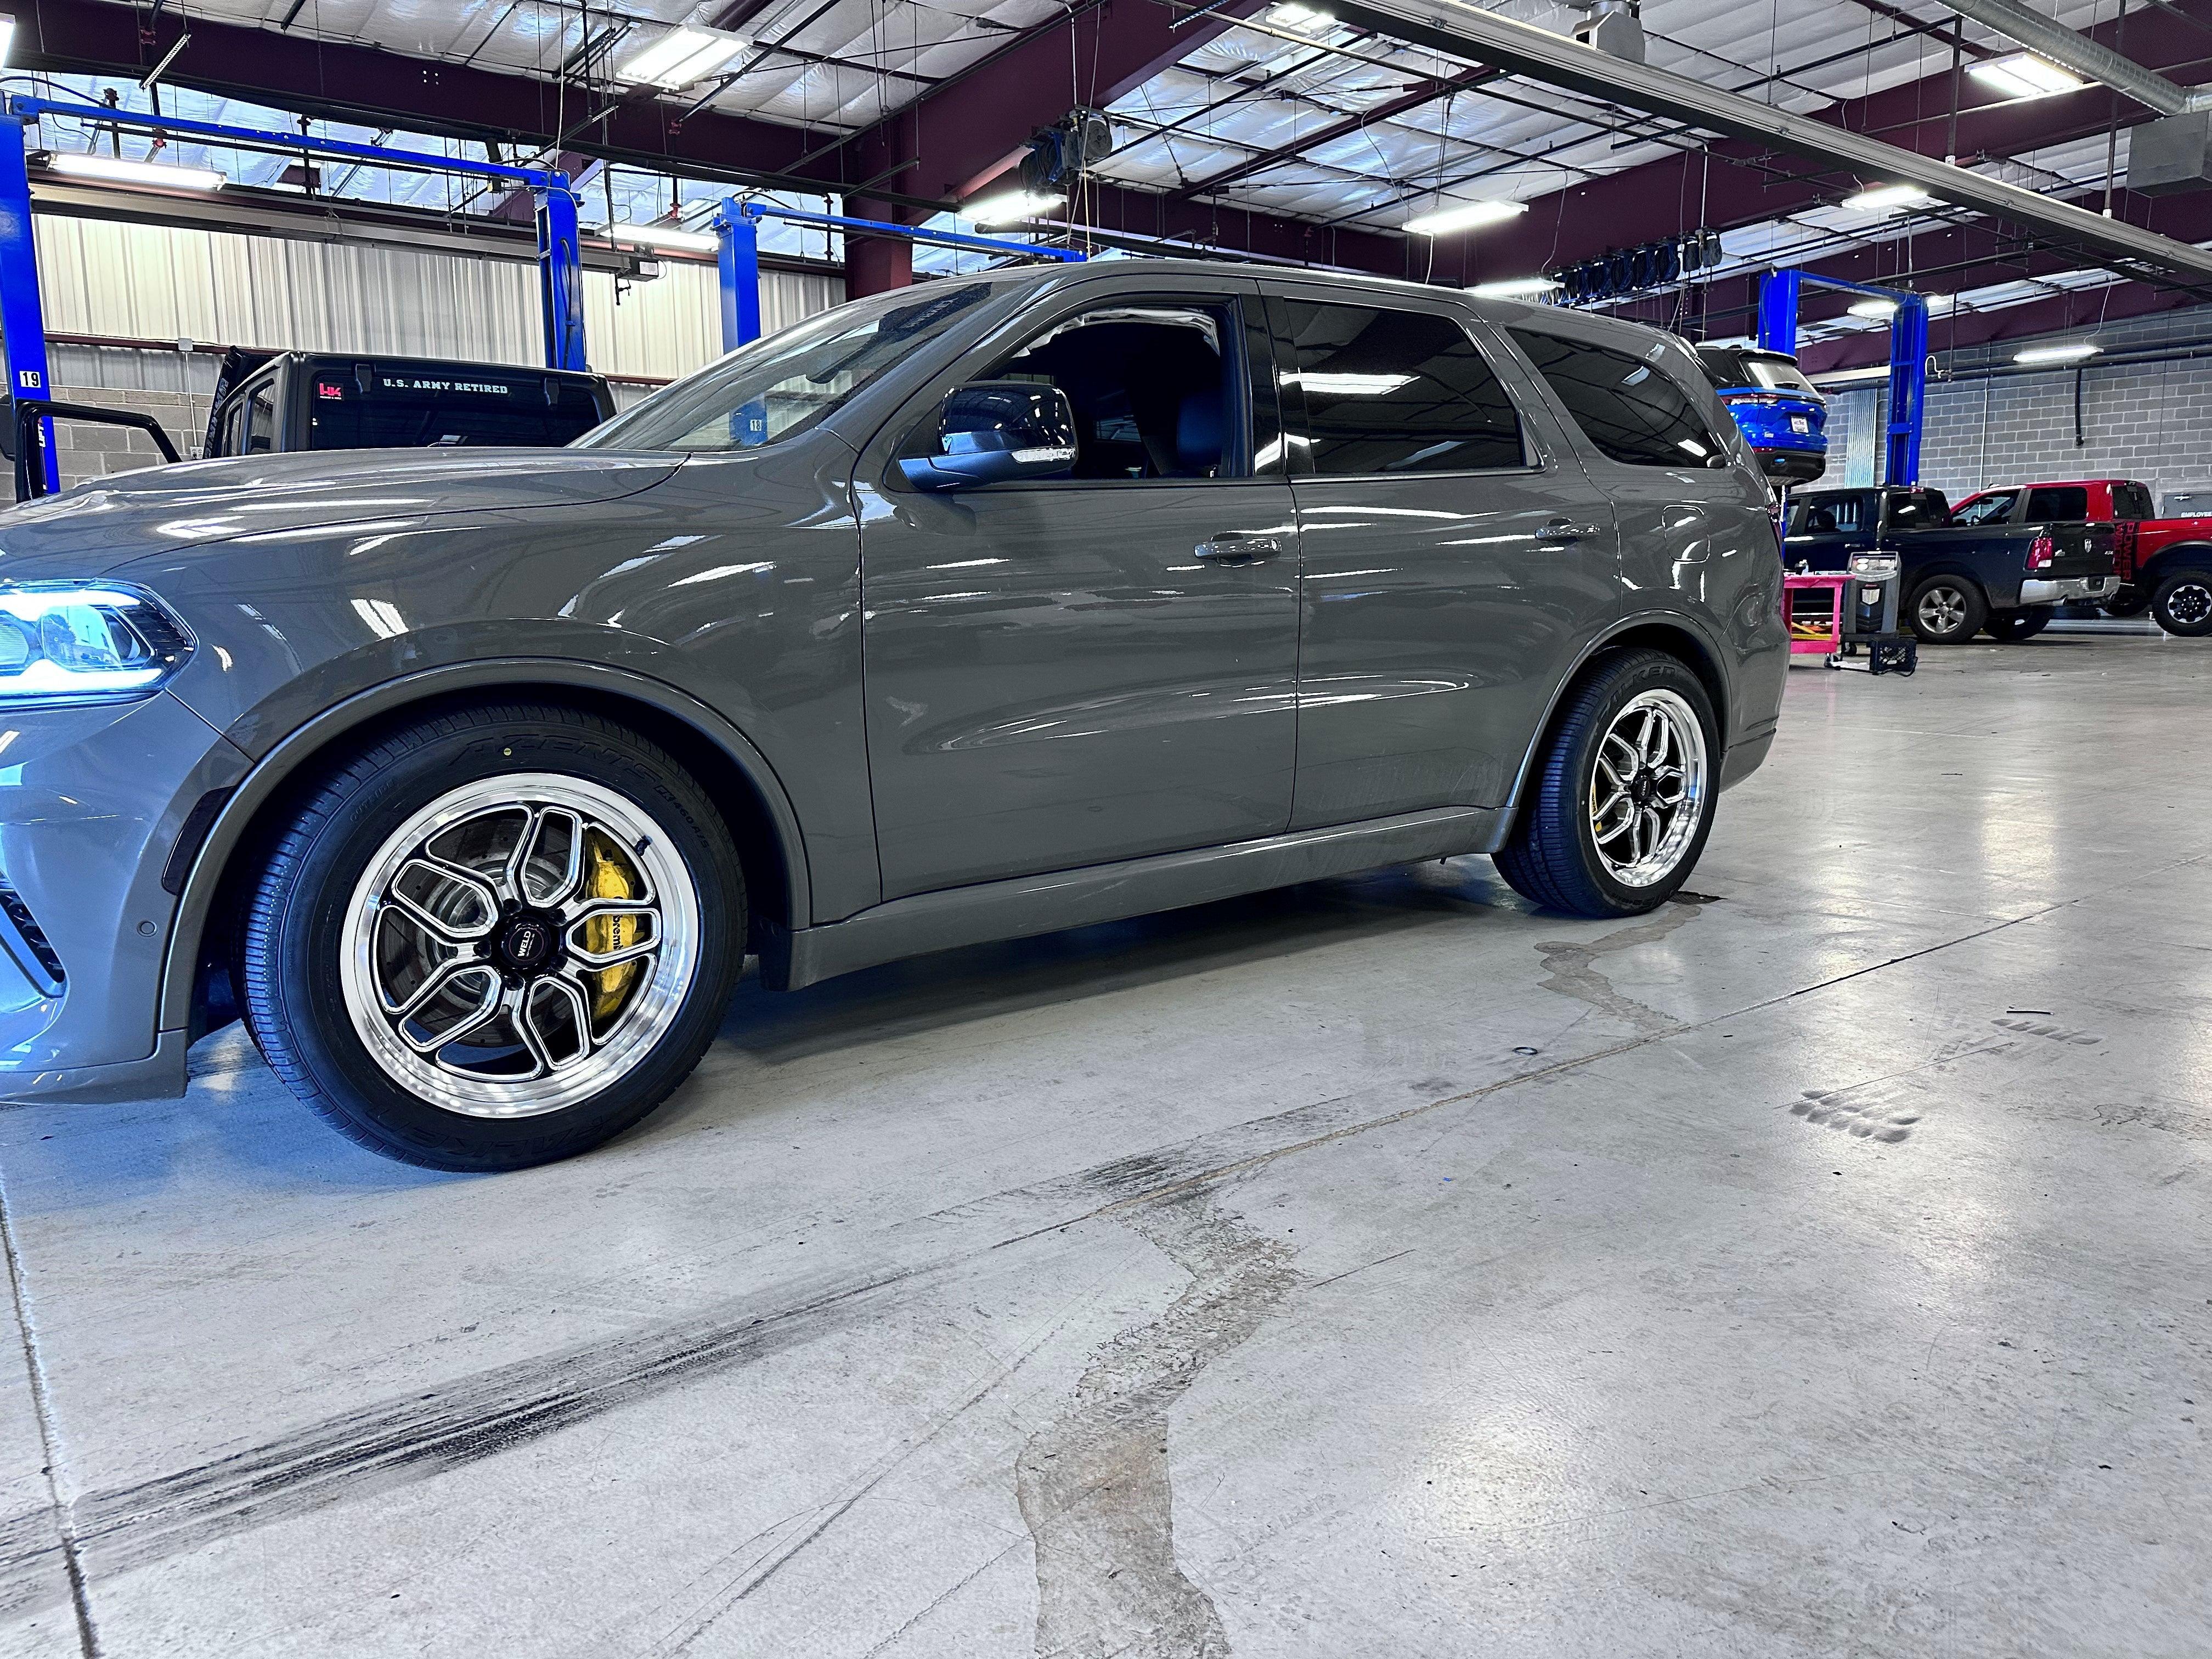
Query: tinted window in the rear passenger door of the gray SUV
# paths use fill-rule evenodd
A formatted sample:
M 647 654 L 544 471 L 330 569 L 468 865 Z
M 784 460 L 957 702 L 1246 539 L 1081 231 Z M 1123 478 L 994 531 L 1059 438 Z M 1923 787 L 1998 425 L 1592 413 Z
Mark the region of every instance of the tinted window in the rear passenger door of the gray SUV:
M 1380 305 L 1283 301 L 1292 365 L 1285 422 L 1314 471 L 1458 473 L 1528 465 L 1520 414 L 1449 316 Z

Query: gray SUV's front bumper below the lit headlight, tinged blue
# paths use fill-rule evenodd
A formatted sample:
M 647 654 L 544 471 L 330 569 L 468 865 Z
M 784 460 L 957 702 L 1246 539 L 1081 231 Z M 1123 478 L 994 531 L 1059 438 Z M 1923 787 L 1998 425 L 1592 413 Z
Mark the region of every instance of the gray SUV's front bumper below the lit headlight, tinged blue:
M 0 880 L 13 891 L 0 1099 L 177 1093 L 184 1033 L 157 1031 L 177 922 L 161 874 L 192 805 L 246 776 L 248 759 L 168 692 L 0 710 Z M 44 951 L 18 956 L 35 936 Z

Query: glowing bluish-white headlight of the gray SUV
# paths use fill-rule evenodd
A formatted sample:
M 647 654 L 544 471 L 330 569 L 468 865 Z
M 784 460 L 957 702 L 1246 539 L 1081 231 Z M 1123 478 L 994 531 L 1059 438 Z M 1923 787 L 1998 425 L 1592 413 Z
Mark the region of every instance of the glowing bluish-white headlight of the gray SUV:
M 0 584 L 0 706 L 146 697 L 190 655 L 192 635 L 150 593 Z

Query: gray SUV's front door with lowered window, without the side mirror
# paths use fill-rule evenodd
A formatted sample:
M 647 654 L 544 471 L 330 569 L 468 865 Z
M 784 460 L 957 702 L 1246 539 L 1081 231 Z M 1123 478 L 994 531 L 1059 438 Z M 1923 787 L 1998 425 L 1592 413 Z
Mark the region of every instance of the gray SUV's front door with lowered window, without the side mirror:
M 1060 290 L 956 380 L 1075 405 L 1068 478 L 900 487 L 931 387 L 860 473 L 883 896 L 1279 834 L 1298 544 L 1250 283 Z M 1272 394 L 1272 387 L 1263 385 Z

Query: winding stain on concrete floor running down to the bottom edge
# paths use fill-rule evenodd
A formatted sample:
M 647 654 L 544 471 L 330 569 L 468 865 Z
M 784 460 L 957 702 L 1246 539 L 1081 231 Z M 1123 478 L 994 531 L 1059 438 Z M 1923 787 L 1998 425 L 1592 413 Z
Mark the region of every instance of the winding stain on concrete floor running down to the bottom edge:
M 1221 1615 L 1175 1557 L 1168 1413 L 1296 1285 L 1290 1245 L 1210 1192 L 1141 1206 L 1128 1225 L 1190 1283 L 1148 1325 L 1106 1343 L 1015 1462 L 1037 1551 L 1037 1655 L 1221 1659 Z

